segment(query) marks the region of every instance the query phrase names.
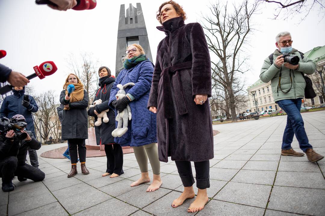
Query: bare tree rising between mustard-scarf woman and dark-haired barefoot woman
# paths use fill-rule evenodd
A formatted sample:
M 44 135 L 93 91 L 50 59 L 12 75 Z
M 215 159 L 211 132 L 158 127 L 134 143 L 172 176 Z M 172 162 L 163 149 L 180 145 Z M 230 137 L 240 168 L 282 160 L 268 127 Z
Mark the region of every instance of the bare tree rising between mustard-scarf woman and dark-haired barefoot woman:
M 70 54 L 66 62 L 69 65 L 69 69 L 79 77 L 85 90 L 88 92 L 89 106 L 93 102 L 98 87 L 98 60 L 93 60 L 92 54 L 82 53 L 79 59 Z M 94 126 L 94 118 L 88 116 L 88 127 L 90 126 Z

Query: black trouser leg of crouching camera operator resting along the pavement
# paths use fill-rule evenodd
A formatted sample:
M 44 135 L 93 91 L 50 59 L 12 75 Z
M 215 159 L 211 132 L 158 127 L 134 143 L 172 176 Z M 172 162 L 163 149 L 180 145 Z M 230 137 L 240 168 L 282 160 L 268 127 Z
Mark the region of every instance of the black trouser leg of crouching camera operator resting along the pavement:
M 29 164 L 24 164 L 17 167 L 15 176 L 28 178 L 33 181 L 43 181 L 45 178 L 45 173 L 36 167 Z

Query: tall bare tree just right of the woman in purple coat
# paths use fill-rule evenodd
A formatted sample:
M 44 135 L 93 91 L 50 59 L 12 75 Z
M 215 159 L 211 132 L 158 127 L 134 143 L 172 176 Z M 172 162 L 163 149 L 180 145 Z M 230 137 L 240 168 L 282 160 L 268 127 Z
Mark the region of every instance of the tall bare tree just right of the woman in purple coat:
M 212 17 L 203 16 L 202 27 L 211 56 L 213 80 L 220 89 L 224 89 L 226 110 L 230 109 L 233 121 L 236 119 L 236 103 L 233 83 L 238 74 L 247 71 L 248 56 L 241 56 L 243 44 L 253 30 L 251 18 L 258 12 L 259 2 L 249 4 L 244 0 L 240 5 L 233 5 L 232 12 L 227 5 L 211 5 Z M 227 111 L 226 111 L 227 112 Z

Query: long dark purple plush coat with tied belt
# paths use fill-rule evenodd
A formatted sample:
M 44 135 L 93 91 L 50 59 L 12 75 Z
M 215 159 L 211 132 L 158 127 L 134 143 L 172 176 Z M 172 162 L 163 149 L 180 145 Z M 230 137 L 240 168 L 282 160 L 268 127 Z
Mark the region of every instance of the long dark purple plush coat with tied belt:
M 211 97 L 211 62 L 199 23 L 172 18 L 157 27 L 159 43 L 148 108 L 157 107 L 159 160 L 212 159 L 213 131 L 209 101 L 196 105 L 197 94 Z

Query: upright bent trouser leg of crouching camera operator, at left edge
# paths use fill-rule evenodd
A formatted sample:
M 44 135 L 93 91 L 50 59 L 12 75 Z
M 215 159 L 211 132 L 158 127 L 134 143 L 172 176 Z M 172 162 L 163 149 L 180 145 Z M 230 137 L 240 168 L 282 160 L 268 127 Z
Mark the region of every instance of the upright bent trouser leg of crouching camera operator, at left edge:
M 3 182 L 9 182 L 15 177 L 18 159 L 15 156 L 9 156 L 0 160 L 0 175 Z

